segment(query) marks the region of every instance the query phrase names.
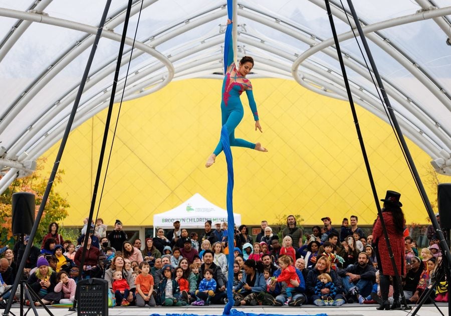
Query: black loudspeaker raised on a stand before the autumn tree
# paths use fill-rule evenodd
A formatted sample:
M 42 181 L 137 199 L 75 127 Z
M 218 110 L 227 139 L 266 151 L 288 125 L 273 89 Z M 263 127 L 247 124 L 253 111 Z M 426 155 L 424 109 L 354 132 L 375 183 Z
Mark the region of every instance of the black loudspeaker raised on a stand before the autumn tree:
M 35 223 L 35 195 L 29 192 L 13 194 L 13 235 L 30 235 Z

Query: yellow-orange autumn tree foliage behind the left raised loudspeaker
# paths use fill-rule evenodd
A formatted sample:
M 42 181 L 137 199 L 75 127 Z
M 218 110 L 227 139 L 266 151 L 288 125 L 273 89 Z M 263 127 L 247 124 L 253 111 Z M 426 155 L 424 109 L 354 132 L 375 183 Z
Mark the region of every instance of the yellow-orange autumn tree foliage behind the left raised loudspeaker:
M 36 171 L 21 179 L 16 179 L 10 187 L 0 195 L 0 244 L 14 243 L 13 232 L 11 230 L 12 225 L 12 195 L 16 192 L 30 192 L 36 197 L 36 209 L 35 214 L 38 213 L 39 207 L 42 202 L 44 192 L 47 187 L 49 175 L 46 175 L 44 170 L 46 160 L 43 158 L 38 159 Z M 47 199 L 47 205 L 45 207 L 41 222 L 38 227 L 38 231 L 35 236 L 35 244 L 39 244 L 43 237 L 47 234 L 50 223 L 60 222 L 67 217 L 69 203 L 66 198 L 62 197 L 59 193 L 55 192 L 55 187 L 62 182 L 61 175 L 64 174 L 63 170 L 57 172 L 55 181 L 52 186 L 49 198 Z M 61 225 L 60 225 L 61 227 Z M 63 235 L 64 237 L 64 235 Z

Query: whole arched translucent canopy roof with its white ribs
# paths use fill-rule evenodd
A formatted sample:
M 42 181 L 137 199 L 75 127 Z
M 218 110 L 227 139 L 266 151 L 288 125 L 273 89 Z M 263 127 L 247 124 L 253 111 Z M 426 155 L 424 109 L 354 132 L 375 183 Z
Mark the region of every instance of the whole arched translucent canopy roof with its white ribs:
M 255 58 L 251 79 L 289 78 L 347 99 L 323 0 L 237 3 L 238 57 Z M 348 3 L 330 4 L 354 101 L 388 122 Z M 225 5 L 133 1 L 115 101 L 139 98 L 172 80 L 221 79 Z M 437 172 L 451 174 L 449 3 L 359 0 L 353 5 L 404 134 L 430 155 Z M 104 6 L 92 0 L 0 3 L 1 192 L 32 172 L 35 160 L 61 139 Z M 112 1 L 73 128 L 108 106 L 126 8 L 127 1 Z

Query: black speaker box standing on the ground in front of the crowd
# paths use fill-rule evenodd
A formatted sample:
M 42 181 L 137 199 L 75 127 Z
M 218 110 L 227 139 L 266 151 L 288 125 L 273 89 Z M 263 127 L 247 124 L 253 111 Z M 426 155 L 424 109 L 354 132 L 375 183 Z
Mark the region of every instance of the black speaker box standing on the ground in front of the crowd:
M 77 283 L 78 316 L 108 316 L 108 281 L 83 279 Z

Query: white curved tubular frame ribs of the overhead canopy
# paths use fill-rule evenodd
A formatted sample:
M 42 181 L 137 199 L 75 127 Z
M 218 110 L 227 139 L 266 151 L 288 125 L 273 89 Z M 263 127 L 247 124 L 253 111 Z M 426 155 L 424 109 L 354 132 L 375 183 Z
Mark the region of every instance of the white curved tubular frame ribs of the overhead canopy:
M 309 1 L 315 6 L 324 9 L 322 1 Z M 441 83 L 439 79 L 434 78 L 426 69 L 420 67 L 420 63 L 416 62 L 408 52 L 396 46 L 394 41 L 379 33 L 381 30 L 395 26 L 431 19 L 449 39 L 451 37 L 451 24 L 446 16 L 451 14 L 451 7 L 437 8 L 427 0 L 415 0 L 415 2 L 420 8 L 417 13 L 373 24 L 368 24 L 361 20 L 361 24 L 368 39 L 373 44 L 380 47 L 401 64 L 423 84 L 444 108 L 451 111 L 451 96 L 447 85 Z M 143 8 L 149 8 L 155 3 L 158 3 L 158 0 L 144 0 Z M 218 3 L 220 4 L 218 5 Z M 311 30 L 296 26 L 283 16 L 265 10 L 263 6 L 251 8 L 245 0 L 235 3 L 238 3 L 238 10 L 236 10 L 238 16 L 268 26 L 310 46 L 309 49 L 299 52 L 295 46 L 291 47 L 285 45 L 285 43 L 278 43 L 274 39 L 265 38 L 261 34 L 248 31 L 250 28 L 244 26 L 240 28 L 240 20 L 236 18 L 238 23 L 234 24 L 234 31 L 237 32 L 237 36 L 234 39 L 236 39 L 239 46 L 238 55 L 244 53 L 244 47 L 240 47 L 240 44 L 243 44 L 247 45 L 246 50 L 250 48 L 252 53 L 257 54 L 259 60 L 259 63 L 254 68 L 255 75 L 251 76 L 251 78 L 271 76 L 286 79 L 291 77 L 302 86 L 317 93 L 338 99 L 347 99 L 347 96 L 343 93 L 344 84 L 341 75 L 327 65 L 318 64 L 318 60 L 315 60 L 315 63 L 309 61 L 318 52 L 338 59 L 335 49 L 330 47 L 333 45 L 332 39 L 321 39 L 320 36 L 317 36 Z M 52 0 L 33 1 L 27 12 L 0 8 L 0 16 L 18 19 L 13 24 L 11 31 L 0 42 L 0 62 L 21 36 L 26 33 L 33 22 L 46 23 L 85 33 L 76 44 L 58 56 L 48 67 L 45 67 L 44 71 L 18 95 L 17 99 L 7 106 L 7 110 L 1 113 L 0 141 L 2 138 L 5 138 L 5 132 L 8 130 L 9 124 L 17 115 L 20 115 L 35 94 L 39 93 L 64 67 L 92 44 L 92 34 L 93 32 L 95 33 L 95 26 L 49 17 L 45 10 L 51 4 Z M 334 1 L 331 1 L 331 4 L 333 15 L 347 24 L 346 13 Z M 140 5 L 140 0 L 136 0 L 133 3 L 132 16 L 139 13 Z M 123 23 L 125 10 L 126 6 L 124 4 L 122 8 L 111 15 L 102 36 L 118 41 L 120 36 L 111 30 Z M 182 42 L 179 48 L 183 48 L 180 50 L 183 53 L 172 55 L 170 52 L 159 52 L 156 48 L 176 36 L 195 30 L 205 23 L 225 16 L 227 16 L 225 1 L 216 2 L 202 12 L 192 14 L 184 21 L 174 22 L 156 34 L 138 41 L 135 44 L 136 50 L 133 52 L 132 60 L 142 56 L 144 53 L 155 57 L 156 60 L 152 59 L 150 63 L 143 64 L 139 69 L 135 69 L 128 79 L 126 87 L 123 86 L 124 80 L 121 80 L 119 88 L 125 89 L 124 100 L 131 100 L 155 92 L 174 79 L 193 77 L 220 78 L 220 73 L 222 72 L 222 58 L 220 55 L 222 38 L 219 35 L 222 32 L 222 28 L 219 28 L 219 32 L 201 35 L 194 41 Z M 351 27 L 353 26 L 351 25 Z M 339 40 L 340 42 L 346 41 L 353 36 L 352 32 L 345 32 L 339 35 Z M 129 45 L 131 44 L 130 41 L 131 39 L 128 39 Z M 197 45 L 193 45 L 194 42 Z M 202 56 L 203 52 L 208 53 Z M 126 65 L 130 61 L 130 53 L 129 50 L 124 54 L 125 58 L 123 58 L 122 65 Z M 377 95 L 369 92 L 372 91 L 370 89 L 372 84 L 370 83 L 367 70 L 360 61 L 360 57 L 348 52 L 343 52 L 343 54 L 346 66 L 362 76 L 363 81 L 352 82 L 352 93 L 360 101 L 360 105 L 381 119 L 388 121 L 379 104 Z M 205 57 L 205 55 L 208 57 Z M 281 67 L 276 69 L 273 66 L 275 63 L 281 65 Z M 112 57 L 102 67 L 90 74 L 85 93 L 89 91 L 91 96 L 82 102 L 74 122 L 74 128 L 107 106 L 106 101 L 109 96 L 106 92 L 109 91 L 110 86 L 99 87 L 98 83 L 108 78 L 113 72 L 114 65 L 115 57 Z M 422 104 L 414 96 L 405 92 L 401 86 L 394 84 L 389 78 L 382 78 L 388 95 L 397 102 L 395 105 L 399 106 L 395 110 L 406 135 L 432 157 L 435 162 L 433 166 L 437 172 L 450 174 L 451 169 L 448 166 L 451 166 L 451 156 L 449 154 L 451 152 L 451 130 L 449 126 L 443 122 L 442 117 L 434 116 L 427 105 Z M 16 177 L 22 177 L 33 172 L 33 161 L 61 138 L 62 126 L 65 125 L 68 115 L 64 115 L 59 121 L 56 121 L 54 118 L 57 114 L 64 113 L 63 111 L 71 105 L 77 87 L 78 85 L 70 87 L 61 93 L 54 102 L 43 107 L 42 115 L 37 117 L 33 123 L 24 126 L 21 133 L 9 135 L 9 139 L 12 140 L 9 140 L 8 144 L 4 142 L 5 147 L 0 148 L 2 149 L 0 153 L 3 151 L 3 154 L 0 156 L 4 159 L 0 162 L 11 169 L 0 180 L 0 191 L 3 192 Z M 408 116 L 404 115 L 405 111 L 407 111 Z

